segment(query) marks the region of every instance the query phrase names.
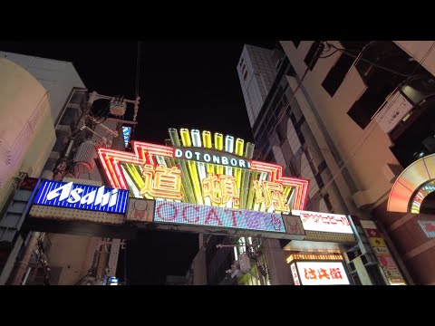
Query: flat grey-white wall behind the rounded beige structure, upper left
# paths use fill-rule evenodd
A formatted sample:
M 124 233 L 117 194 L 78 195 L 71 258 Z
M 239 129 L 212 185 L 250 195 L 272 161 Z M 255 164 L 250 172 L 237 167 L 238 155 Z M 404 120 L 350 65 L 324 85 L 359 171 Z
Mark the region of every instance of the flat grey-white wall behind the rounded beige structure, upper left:
M 72 62 L 44 59 L 18 53 L 0 51 L 0 58 L 7 58 L 30 72 L 48 91 L 53 121 L 68 101 L 73 87 L 85 88 Z

